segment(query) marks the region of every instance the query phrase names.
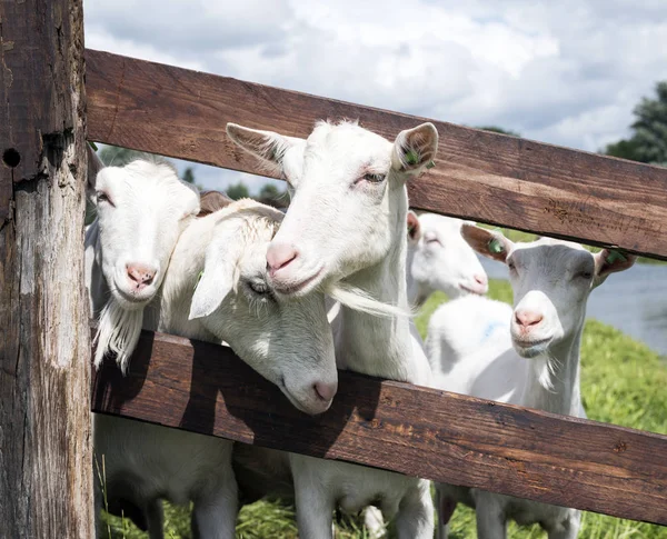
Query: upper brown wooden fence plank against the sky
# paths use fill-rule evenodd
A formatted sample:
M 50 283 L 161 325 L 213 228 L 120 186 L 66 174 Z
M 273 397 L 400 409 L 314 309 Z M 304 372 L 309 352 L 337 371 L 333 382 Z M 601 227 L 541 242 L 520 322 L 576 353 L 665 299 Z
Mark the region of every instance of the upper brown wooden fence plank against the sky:
M 88 50 L 91 139 L 266 173 L 227 140 L 229 121 L 305 137 L 354 118 L 389 139 L 424 118 Z M 434 121 L 436 168 L 410 186 L 415 208 L 620 246 L 667 259 L 667 169 Z

